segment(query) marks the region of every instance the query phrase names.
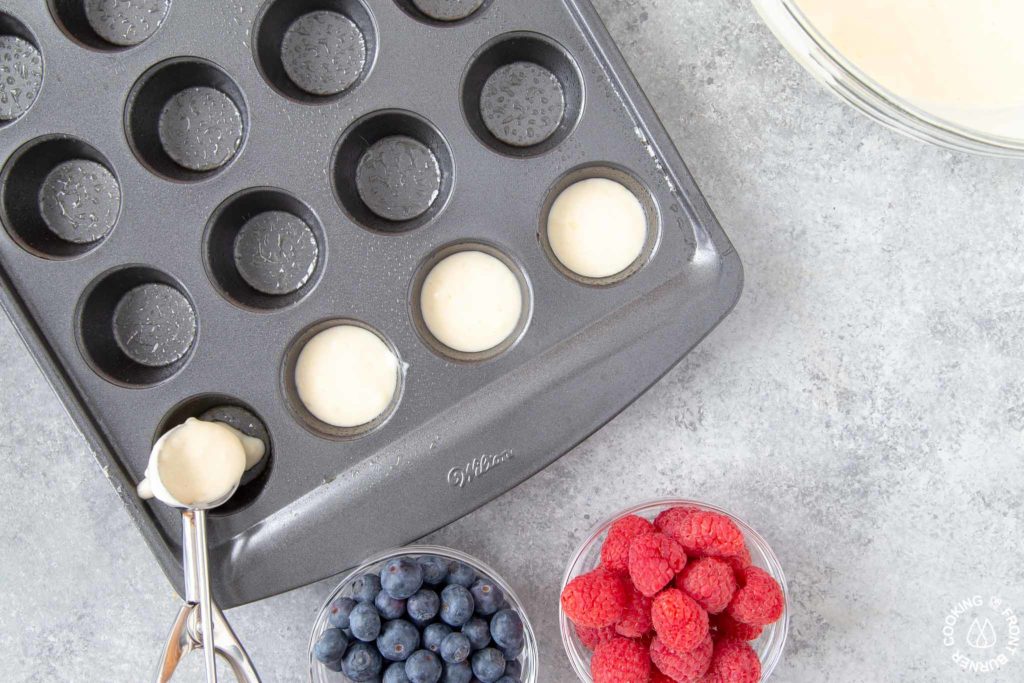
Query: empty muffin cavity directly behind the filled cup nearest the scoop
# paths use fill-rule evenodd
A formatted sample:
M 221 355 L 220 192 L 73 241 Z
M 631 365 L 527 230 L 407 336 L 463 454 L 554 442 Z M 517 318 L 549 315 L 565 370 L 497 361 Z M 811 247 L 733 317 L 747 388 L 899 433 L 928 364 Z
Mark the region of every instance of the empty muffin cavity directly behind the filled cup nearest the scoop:
M 304 298 L 324 272 L 324 227 L 312 210 L 272 187 L 244 190 L 210 218 L 207 271 L 244 308 L 274 310 Z

